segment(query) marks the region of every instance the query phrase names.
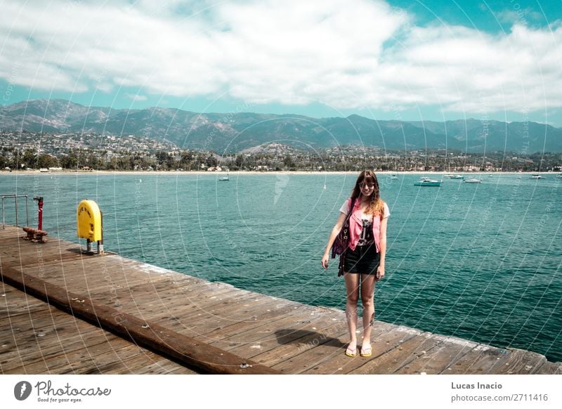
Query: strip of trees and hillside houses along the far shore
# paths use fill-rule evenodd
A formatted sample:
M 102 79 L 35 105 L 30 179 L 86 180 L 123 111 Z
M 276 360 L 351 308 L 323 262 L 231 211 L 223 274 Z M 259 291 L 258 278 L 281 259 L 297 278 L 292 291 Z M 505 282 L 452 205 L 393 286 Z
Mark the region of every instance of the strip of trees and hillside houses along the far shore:
M 74 149 L 59 155 L 37 153 L 33 148 L 20 152 L 17 148 L 3 147 L 0 151 L 0 169 L 97 169 L 115 171 L 133 170 L 228 170 L 262 171 L 355 171 L 379 169 L 382 171 L 462 171 L 471 167 L 475 171 L 562 171 L 560 153 L 542 152 L 518 157 L 508 152 L 466 154 L 427 150 L 424 152 L 352 152 L 297 151 L 233 153 L 217 155 L 201 150 L 178 150 L 153 153 L 122 150 Z

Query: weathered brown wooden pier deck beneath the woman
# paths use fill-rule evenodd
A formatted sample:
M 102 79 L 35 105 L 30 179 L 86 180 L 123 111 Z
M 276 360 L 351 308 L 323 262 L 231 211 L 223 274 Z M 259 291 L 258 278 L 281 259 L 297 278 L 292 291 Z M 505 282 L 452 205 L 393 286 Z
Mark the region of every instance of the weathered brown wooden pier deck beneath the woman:
M 344 355 L 343 311 L 0 229 L 3 374 L 562 374 L 562 363 L 376 321 Z M 343 291 L 343 290 L 342 290 Z

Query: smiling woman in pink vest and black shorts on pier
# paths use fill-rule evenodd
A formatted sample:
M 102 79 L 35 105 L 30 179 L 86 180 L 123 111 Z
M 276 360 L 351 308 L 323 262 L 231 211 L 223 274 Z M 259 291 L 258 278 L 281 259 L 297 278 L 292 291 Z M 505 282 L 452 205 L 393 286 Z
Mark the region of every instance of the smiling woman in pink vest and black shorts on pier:
M 353 209 L 350 209 L 353 202 Z M 362 171 L 344 202 L 336 225 L 329 235 L 328 244 L 322 257 L 322 267 L 328 268 L 329 251 L 339 231 L 349 216 L 349 242 L 344 259 L 346 282 L 346 319 L 349 329 L 347 356 L 357 355 L 357 304 L 359 294 L 363 306 L 363 338 L 361 356 L 371 356 L 371 323 L 374 320 L 374 283 L 384 277 L 386 254 L 386 224 L 390 210 L 381 200 L 379 181 L 373 171 Z

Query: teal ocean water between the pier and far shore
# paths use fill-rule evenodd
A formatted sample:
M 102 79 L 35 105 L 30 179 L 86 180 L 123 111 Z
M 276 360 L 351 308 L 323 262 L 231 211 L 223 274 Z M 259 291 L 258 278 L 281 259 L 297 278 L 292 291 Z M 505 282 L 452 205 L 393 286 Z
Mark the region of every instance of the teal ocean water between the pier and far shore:
M 562 361 L 562 179 L 483 183 L 379 175 L 391 209 L 377 319 Z M 435 176 L 435 175 L 433 175 Z M 337 260 L 320 259 L 356 174 L 0 174 L 0 194 L 44 196 L 44 230 L 72 242 L 95 200 L 104 247 L 124 257 L 306 304 L 344 309 Z M 5 221 L 15 223 L 11 200 Z M 25 207 L 18 203 L 20 225 Z M 85 245 L 84 240 L 81 242 Z M 95 247 L 95 245 L 94 245 Z

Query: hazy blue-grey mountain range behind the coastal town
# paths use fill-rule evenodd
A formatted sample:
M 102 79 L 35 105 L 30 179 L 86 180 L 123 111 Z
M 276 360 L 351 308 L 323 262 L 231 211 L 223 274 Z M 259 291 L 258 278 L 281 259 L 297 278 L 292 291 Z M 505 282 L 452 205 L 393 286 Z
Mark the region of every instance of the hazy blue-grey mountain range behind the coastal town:
M 402 151 L 446 148 L 519 154 L 562 152 L 562 129 L 537 122 L 382 121 L 360 115 L 318 119 L 251 112 L 197 113 L 174 108 L 117 110 L 58 99 L 1 106 L 0 128 L 146 136 L 174 143 L 182 149 L 218 153 L 240 152 L 264 143 L 281 143 L 304 150 L 365 145 Z

